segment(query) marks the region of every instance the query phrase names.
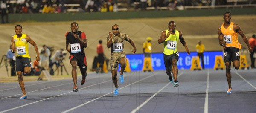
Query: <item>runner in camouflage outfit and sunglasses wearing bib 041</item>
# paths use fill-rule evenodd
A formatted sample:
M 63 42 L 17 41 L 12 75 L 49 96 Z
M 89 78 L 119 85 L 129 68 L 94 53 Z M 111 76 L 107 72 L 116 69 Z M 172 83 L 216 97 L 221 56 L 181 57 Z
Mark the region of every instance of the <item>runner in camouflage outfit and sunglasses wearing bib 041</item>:
M 110 66 L 111 66 L 111 73 L 112 73 L 112 80 L 116 87 L 114 95 L 118 95 L 118 85 L 117 85 L 117 70 L 118 70 L 118 64 L 121 65 L 121 71 L 120 71 L 120 83 L 122 84 L 124 82 L 123 72 L 126 67 L 126 56 L 124 52 L 124 41 L 128 41 L 134 49 L 132 49 L 131 52 L 136 52 L 136 47 L 134 45 L 134 42 L 129 38 L 128 35 L 124 33 L 119 32 L 119 26 L 117 24 L 112 26 L 112 32 L 109 32 L 108 38 L 107 38 L 107 47 L 111 48 L 111 60 L 110 60 Z

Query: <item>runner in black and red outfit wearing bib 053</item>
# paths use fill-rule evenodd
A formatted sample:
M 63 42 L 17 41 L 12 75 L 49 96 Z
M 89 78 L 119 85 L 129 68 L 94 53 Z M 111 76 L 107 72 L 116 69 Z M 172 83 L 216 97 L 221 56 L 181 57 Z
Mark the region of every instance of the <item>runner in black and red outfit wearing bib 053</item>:
M 70 48 L 68 45 L 70 44 Z M 77 92 L 77 72 L 76 68 L 79 66 L 82 80 L 81 85 L 84 84 L 87 76 L 87 63 L 84 53 L 84 48 L 87 47 L 87 39 L 84 32 L 78 31 L 78 23 L 71 23 L 71 32 L 66 33 L 66 49 L 70 53 L 70 64 L 72 65 L 72 78 L 74 82 L 73 91 Z

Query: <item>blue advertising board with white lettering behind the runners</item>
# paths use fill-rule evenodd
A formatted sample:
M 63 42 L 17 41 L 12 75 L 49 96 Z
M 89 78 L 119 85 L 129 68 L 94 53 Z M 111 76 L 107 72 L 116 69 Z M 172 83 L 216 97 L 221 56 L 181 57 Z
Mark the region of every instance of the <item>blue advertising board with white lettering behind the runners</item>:
M 190 69 L 192 56 L 196 56 L 197 52 L 191 52 L 187 55 L 186 52 L 179 52 L 179 60 L 177 62 L 178 69 Z M 215 55 L 223 55 L 222 51 L 204 52 L 204 67 L 213 68 L 215 62 Z M 143 54 L 127 54 L 129 59 L 131 71 L 141 71 L 143 68 Z M 201 62 L 201 59 L 200 59 Z M 165 70 L 163 62 L 163 53 L 152 53 L 151 63 L 154 70 Z M 120 70 L 120 66 L 119 69 Z

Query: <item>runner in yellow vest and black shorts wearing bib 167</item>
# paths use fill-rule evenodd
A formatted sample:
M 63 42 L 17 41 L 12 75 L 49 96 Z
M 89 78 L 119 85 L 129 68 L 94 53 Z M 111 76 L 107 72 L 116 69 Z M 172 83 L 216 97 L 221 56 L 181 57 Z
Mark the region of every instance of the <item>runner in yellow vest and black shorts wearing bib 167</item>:
M 15 26 L 15 33 L 16 35 L 12 36 L 12 53 L 16 52 L 16 72 L 18 75 L 18 80 L 20 84 L 20 88 L 23 92 L 23 96 L 20 97 L 20 99 L 26 99 L 26 90 L 24 87 L 23 82 L 23 73 L 29 74 L 31 70 L 31 64 L 30 64 L 30 56 L 29 56 L 29 45 L 28 42 L 34 46 L 35 52 L 36 52 L 36 61 L 40 61 L 39 53 L 38 53 L 38 47 L 36 43 L 26 34 L 22 34 L 22 26 L 16 25 Z

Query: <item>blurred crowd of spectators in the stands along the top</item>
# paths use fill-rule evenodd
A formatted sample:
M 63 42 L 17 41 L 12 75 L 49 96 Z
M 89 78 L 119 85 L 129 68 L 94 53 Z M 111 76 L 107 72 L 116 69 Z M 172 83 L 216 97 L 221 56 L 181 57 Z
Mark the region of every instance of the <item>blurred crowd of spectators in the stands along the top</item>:
M 184 9 L 184 6 L 227 5 L 239 0 L 0 0 L 8 13 L 117 12 L 133 10 Z M 251 3 L 255 0 L 241 0 Z

